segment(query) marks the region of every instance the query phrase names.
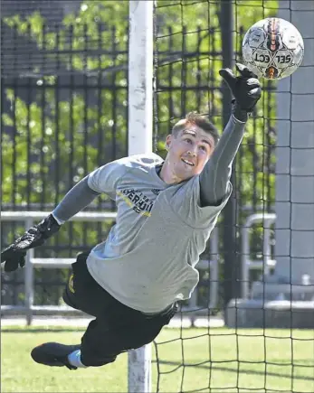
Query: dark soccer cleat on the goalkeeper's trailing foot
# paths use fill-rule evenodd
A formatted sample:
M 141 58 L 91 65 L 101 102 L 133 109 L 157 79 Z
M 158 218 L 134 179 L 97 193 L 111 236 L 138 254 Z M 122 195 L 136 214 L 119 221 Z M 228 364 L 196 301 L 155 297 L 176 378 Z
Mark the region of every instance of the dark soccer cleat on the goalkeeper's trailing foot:
M 68 360 L 68 355 L 72 351 L 80 350 L 81 345 L 63 345 L 58 342 L 45 342 L 38 347 L 33 348 L 31 356 L 37 363 L 46 366 L 62 367 L 66 366 L 70 370 L 76 370 Z

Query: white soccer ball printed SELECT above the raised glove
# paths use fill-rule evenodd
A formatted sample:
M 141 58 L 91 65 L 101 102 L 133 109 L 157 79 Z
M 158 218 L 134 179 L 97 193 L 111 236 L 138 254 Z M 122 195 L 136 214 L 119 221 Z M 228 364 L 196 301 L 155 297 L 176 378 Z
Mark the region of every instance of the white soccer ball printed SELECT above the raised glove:
M 244 35 L 243 61 L 258 77 L 281 80 L 298 69 L 304 43 L 298 29 L 280 18 L 262 19 Z

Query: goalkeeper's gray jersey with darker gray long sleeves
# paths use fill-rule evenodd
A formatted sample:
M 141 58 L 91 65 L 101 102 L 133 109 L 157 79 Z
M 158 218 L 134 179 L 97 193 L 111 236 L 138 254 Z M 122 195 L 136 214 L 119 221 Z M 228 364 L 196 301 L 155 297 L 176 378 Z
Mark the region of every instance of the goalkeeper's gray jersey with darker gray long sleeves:
M 198 282 L 195 265 L 232 192 L 243 129 L 231 117 L 203 172 L 186 182 L 163 182 L 156 171 L 163 160 L 139 154 L 100 167 L 66 194 L 52 212 L 61 223 L 101 192 L 117 203 L 116 225 L 87 260 L 110 295 L 144 313 L 190 297 Z

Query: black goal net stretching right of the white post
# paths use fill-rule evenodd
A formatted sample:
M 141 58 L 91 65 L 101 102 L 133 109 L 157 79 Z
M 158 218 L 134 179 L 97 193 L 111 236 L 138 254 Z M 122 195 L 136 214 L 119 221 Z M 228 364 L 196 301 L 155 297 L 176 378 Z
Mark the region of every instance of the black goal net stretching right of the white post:
M 230 115 L 230 97 L 225 98 L 218 70 L 242 61 L 243 35 L 253 23 L 279 16 L 297 23 L 313 42 L 313 32 L 302 31 L 301 22 L 306 12 L 313 15 L 313 6 L 300 3 L 157 3 L 155 106 L 160 154 L 171 126 L 189 111 L 208 116 L 223 130 Z M 166 15 L 170 25 L 165 23 Z M 306 147 L 313 165 L 309 157 L 312 139 L 297 134 L 301 129 L 308 132 L 308 121 L 313 128 L 313 116 L 301 106 L 292 107 L 295 100 L 313 94 L 313 89 L 296 87 L 302 73 L 308 75 L 313 65 L 313 60 L 305 60 L 299 76 L 292 80 L 262 80 L 262 99 L 233 164 L 232 200 L 201 256 L 196 294 L 182 305 L 177 321 L 181 327 L 164 331 L 154 342 L 156 391 L 305 392 L 314 388 L 313 281 L 304 275 L 311 271 L 313 249 L 304 254 L 301 246 L 293 246 L 293 241 L 301 241 L 296 240 L 298 229 L 313 230 L 313 225 L 302 225 L 290 214 L 298 202 L 309 208 L 309 199 L 297 197 L 298 191 L 292 189 L 298 175 L 308 171 L 313 176 L 313 170 L 308 166 L 296 173 L 291 165 L 301 165 L 293 154 L 298 154 L 298 148 L 305 154 Z M 313 76 L 309 78 L 313 83 Z M 298 145 L 296 138 L 303 136 Z M 312 180 L 310 184 L 313 187 Z M 285 187 L 290 189 L 282 191 Z M 285 213 L 289 218 L 283 217 Z M 284 229 L 288 229 L 285 240 Z M 276 252 L 275 239 L 286 241 L 289 248 L 277 244 Z M 281 254 L 282 247 L 286 253 Z M 296 288 L 292 285 L 298 276 L 293 257 L 302 256 L 308 265 Z M 282 282 L 273 278 L 272 286 L 279 285 L 276 290 L 268 283 L 283 257 L 288 260 L 281 268 L 286 278 L 281 276 Z

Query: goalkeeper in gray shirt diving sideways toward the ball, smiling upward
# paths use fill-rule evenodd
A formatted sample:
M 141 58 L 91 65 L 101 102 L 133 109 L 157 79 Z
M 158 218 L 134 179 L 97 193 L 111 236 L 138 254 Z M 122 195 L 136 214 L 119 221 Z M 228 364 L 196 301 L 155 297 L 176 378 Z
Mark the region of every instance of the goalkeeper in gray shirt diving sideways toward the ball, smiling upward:
M 117 202 L 106 241 L 77 257 L 63 299 L 93 315 L 81 344 L 47 342 L 33 360 L 69 369 L 102 366 L 119 353 L 152 342 L 198 283 L 195 265 L 232 193 L 233 158 L 261 98 L 256 76 L 237 64 L 220 75 L 233 93 L 233 113 L 218 142 L 216 128 L 191 113 L 167 136 L 167 157 L 139 154 L 101 166 L 76 184 L 45 220 L 2 252 L 5 271 L 24 266 L 29 248 L 43 245 L 101 192 Z

